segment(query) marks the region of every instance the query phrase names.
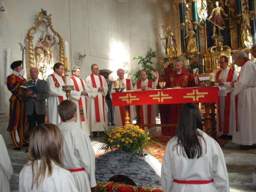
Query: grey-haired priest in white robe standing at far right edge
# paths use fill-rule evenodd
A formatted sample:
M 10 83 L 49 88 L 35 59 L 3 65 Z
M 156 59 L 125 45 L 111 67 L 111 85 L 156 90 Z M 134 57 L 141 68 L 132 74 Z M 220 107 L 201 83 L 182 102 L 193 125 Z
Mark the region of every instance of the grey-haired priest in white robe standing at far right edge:
M 237 99 L 237 131 L 232 142 L 240 144 L 241 150 L 255 148 L 256 143 L 256 65 L 244 51 L 234 54 L 234 61 L 241 67 L 238 81 L 232 82 Z

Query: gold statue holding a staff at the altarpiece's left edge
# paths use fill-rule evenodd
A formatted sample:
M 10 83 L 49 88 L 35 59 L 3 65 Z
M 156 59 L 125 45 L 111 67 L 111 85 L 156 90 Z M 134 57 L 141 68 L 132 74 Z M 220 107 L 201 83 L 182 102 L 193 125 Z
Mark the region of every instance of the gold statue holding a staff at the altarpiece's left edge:
M 176 57 L 177 56 L 177 50 L 176 50 L 176 40 L 175 40 L 175 36 L 172 33 L 172 31 L 170 31 L 170 26 L 167 26 L 167 34 L 165 35 L 164 38 L 161 39 L 165 39 L 165 53 L 166 53 L 166 57 L 167 58 L 172 58 L 172 57 Z

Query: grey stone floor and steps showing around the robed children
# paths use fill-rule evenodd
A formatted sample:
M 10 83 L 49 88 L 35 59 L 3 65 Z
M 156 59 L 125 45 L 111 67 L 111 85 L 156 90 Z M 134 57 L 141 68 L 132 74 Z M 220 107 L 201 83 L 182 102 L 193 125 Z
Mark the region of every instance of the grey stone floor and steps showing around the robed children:
M 92 138 L 91 143 L 95 154 L 100 153 L 100 137 Z M 10 181 L 11 191 L 18 191 L 19 172 L 26 163 L 28 147 L 23 151 L 12 150 L 11 145 L 7 145 L 12 161 L 14 175 Z M 256 191 L 256 149 L 242 151 L 239 145 L 228 141 L 222 148 L 228 170 L 229 185 L 231 192 L 252 192 Z

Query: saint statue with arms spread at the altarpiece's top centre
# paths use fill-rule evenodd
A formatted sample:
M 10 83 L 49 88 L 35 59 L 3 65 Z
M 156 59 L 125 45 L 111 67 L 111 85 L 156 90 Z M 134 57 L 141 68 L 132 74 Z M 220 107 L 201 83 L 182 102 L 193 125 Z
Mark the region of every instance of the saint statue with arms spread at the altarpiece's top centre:
M 228 15 L 224 12 L 222 7 L 219 7 L 219 2 L 218 1 L 215 2 L 215 5 L 216 5 L 216 8 L 212 9 L 211 14 L 207 18 L 207 20 L 210 20 L 210 18 L 213 17 L 212 22 L 216 23 L 220 27 L 225 26 L 224 20 L 223 20 L 221 15 L 224 15 L 226 17 Z M 214 35 L 215 35 L 216 25 L 212 25 L 212 29 L 213 29 L 213 32 L 214 32 Z M 218 27 L 218 29 L 219 29 L 219 35 L 220 35 L 221 34 L 221 28 Z M 214 35 L 212 35 L 212 36 L 214 36 Z

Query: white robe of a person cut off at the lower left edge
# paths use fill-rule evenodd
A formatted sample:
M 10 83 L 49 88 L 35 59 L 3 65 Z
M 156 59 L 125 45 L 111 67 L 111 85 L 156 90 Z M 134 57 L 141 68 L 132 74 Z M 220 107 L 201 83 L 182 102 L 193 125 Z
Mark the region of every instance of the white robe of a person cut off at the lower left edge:
M 11 159 L 9 157 L 5 140 L 0 134 L 0 191 L 10 191 L 10 179 L 13 175 Z

